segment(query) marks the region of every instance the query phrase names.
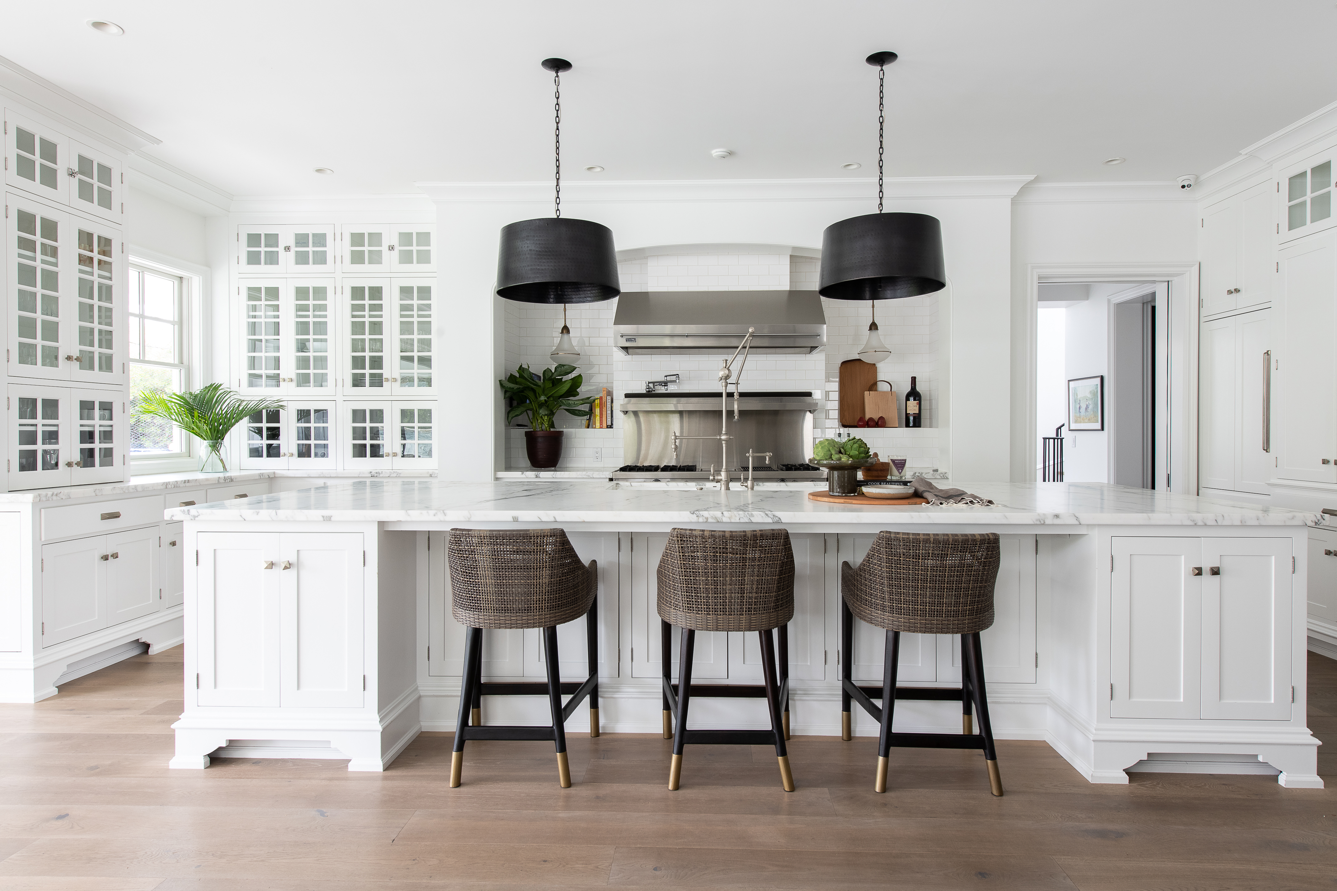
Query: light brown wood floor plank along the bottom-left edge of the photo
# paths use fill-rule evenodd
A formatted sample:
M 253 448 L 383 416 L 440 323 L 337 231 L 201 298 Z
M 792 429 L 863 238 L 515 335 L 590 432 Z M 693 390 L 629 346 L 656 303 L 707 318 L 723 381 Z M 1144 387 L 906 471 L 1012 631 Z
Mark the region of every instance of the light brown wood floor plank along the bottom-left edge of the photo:
M 23 875 L 131 878 L 607 882 L 608 846 L 231 842 L 144 844 L 124 839 L 37 839 L 0 860 L 0 887 Z

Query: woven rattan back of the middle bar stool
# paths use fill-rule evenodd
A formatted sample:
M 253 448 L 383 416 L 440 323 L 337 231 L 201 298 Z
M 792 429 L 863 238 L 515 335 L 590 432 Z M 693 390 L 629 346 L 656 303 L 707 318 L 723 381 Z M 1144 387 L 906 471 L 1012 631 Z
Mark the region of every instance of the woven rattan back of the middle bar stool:
M 673 529 L 658 572 L 659 617 L 694 631 L 770 631 L 794 617 L 785 529 Z

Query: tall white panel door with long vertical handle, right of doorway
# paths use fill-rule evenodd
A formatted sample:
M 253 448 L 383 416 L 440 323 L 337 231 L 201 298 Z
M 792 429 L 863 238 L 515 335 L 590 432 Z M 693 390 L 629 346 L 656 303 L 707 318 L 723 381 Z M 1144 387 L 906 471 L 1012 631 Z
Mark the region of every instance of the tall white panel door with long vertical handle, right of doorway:
M 1269 494 L 1271 369 L 1269 310 L 1202 323 L 1198 478 L 1203 488 Z

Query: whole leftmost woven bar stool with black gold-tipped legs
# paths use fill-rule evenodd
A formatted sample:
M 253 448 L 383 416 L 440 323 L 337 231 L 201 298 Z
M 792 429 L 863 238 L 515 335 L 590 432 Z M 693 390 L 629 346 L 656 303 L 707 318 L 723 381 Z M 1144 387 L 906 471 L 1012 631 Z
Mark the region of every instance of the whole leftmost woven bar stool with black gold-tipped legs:
M 562 529 L 452 529 L 447 546 L 453 600 L 451 614 L 465 627 L 460 717 L 451 756 L 451 788 L 460 784 L 468 740 L 552 740 L 558 780 L 571 787 L 566 721 L 590 697 L 590 736 L 599 735 L 599 576 L 598 564 L 580 562 Z M 562 683 L 558 625 L 586 617 L 590 677 Z M 484 628 L 541 628 L 548 680 L 499 684 L 483 681 Z M 551 727 L 484 727 L 483 696 L 547 695 Z M 563 693 L 571 693 L 562 704 Z

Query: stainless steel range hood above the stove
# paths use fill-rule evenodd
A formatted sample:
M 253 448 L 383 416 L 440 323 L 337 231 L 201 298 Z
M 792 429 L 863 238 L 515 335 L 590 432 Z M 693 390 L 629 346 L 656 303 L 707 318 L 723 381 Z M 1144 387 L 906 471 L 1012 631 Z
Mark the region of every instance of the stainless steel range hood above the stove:
M 747 329 L 754 355 L 806 355 L 826 346 L 817 291 L 623 291 L 612 343 L 627 355 L 733 353 Z

